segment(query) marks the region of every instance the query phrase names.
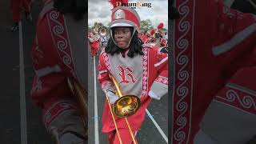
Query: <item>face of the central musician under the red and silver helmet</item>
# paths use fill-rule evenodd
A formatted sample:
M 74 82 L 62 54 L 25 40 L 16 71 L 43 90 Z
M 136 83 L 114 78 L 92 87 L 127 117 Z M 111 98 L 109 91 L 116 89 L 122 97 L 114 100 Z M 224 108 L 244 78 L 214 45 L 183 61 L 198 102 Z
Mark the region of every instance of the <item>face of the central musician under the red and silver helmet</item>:
M 114 41 L 121 49 L 126 49 L 131 38 L 131 31 L 129 27 L 114 28 Z

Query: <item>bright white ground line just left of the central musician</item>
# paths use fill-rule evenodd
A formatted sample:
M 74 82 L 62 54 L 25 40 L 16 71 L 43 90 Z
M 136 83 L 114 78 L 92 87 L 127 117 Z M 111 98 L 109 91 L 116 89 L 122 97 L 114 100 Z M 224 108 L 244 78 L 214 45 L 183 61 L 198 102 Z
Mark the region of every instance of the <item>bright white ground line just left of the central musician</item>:
M 96 86 L 96 62 L 94 57 L 94 134 L 95 144 L 98 144 L 98 104 L 97 104 L 97 86 Z

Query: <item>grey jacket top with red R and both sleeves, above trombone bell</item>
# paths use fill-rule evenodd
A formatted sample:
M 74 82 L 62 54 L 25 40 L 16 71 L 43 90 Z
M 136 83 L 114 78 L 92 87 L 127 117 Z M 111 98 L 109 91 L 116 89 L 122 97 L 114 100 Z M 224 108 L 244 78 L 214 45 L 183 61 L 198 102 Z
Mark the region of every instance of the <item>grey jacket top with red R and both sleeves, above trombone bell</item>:
M 98 62 L 98 81 L 102 90 L 114 91 L 109 78 L 112 74 L 117 79 L 123 94 L 134 94 L 139 98 L 149 95 L 160 99 L 168 93 L 168 57 L 157 47 L 143 45 L 143 55 L 134 58 L 122 54 L 106 54 L 102 50 Z

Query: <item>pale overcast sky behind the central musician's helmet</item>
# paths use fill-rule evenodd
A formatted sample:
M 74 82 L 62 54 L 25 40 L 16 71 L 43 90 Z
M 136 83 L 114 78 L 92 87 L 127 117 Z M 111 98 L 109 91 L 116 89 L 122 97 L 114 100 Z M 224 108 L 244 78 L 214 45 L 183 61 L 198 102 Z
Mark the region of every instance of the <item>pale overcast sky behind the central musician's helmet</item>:
M 151 3 L 151 8 L 137 7 L 141 20 L 150 19 L 154 27 L 160 22 L 168 27 L 168 1 L 167 0 L 129 0 L 129 2 Z M 102 22 L 105 26 L 110 22 L 111 9 L 113 6 L 108 0 L 89 0 L 88 2 L 88 24 L 94 26 L 94 22 Z

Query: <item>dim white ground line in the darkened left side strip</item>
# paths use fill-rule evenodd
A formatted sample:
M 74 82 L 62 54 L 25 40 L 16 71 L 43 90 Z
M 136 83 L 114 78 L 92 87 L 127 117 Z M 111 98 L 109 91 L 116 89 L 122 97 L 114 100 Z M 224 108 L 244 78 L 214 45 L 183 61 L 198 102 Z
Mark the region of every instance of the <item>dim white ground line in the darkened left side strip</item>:
M 26 134 L 26 93 L 25 93 L 25 73 L 23 57 L 23 38 L 22 38 L 22 21 L 18 22 L 19 29 L 19 94 L 21 110 L 21 144 L 27 144 Z

